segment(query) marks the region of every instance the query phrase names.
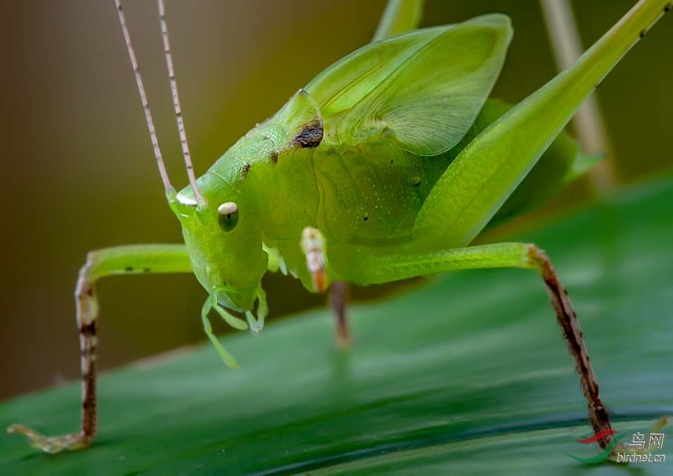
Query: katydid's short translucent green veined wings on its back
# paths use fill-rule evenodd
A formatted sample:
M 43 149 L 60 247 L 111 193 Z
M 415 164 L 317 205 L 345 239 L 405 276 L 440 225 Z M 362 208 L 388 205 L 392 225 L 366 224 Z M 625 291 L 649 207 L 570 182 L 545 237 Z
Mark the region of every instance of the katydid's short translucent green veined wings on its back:
M 340 142 L 390 139 L 434 156 L 474 122 L 505 61 L 510 19 L 484 15 L 374 42 L 306 87 L 324 119 L 339 115 Z

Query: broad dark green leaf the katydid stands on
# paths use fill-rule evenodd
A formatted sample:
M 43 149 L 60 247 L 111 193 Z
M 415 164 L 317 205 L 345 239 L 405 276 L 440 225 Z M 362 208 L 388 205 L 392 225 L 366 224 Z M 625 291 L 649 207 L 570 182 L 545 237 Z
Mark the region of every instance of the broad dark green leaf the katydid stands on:
M 519 237 L 545 248 L 567 285 L 603 401 L 615 430 L 627 433 L 624 441 L 673 413 L 670 203 L 673 178 L 622 191 Z M 319 309 L 272 322 L 258 337 L 223 339 L 240 370 L 227 369 L 206 344 L 109 372 L 99 382 L 100 432 L 90 449 L 49 456 L 3 436 L 1 472 L 590 469 L 603 475 L 617 469 L 584 467 L 564 454 L 587 457 L 598 449 L 575 441 L 593 432 L 536 273 L 451 273 L 352 306 L 351 315 L 354 346 L 347 353 L 335 349 L 331 315 Z M 72 431 L 79 398 L 75 383 L 23 396 L 0 405 L 0 422 L 48 434 Z M 667 456 L 671 438 L 669 430 Z M 641 463 L 638 474 L 665 472 L 670 464 Z

